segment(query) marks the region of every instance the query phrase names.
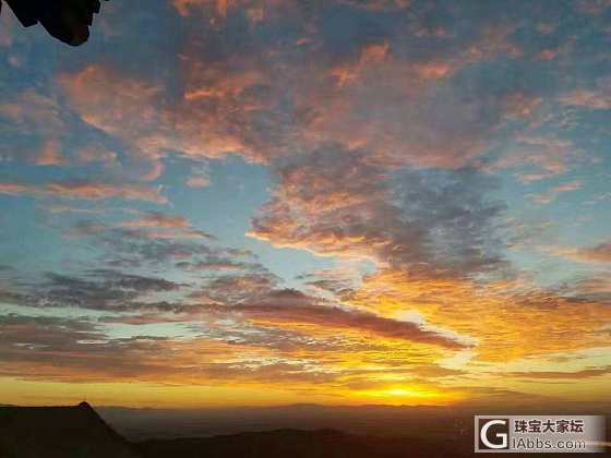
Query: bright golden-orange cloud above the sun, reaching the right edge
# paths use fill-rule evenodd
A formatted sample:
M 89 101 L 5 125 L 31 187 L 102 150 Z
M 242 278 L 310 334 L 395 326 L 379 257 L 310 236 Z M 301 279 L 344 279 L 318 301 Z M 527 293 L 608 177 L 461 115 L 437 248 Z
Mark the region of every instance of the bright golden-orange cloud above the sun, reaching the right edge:
M 491 284 L 482 289 L 466 280 L 414 280 L 383 270 L 367 278 L 349 300 L 385 316 L 418 312 L 433 328 L 474 338 L 474 352 L 482 361 L 608 346 L 608 337 L 600 333 L 611 317 L 606 304 L 573 302 L 534 287 L 526 291 L 519 285 L 496 287 Z

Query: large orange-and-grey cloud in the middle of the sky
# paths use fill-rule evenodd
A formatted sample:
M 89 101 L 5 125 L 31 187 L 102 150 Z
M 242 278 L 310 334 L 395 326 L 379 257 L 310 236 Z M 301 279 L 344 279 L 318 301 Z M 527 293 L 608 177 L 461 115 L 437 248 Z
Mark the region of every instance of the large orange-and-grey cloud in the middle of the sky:
M 252 237 L 320 255 L 370 257 L 411 275 L 462 276 L 498 268 L 503 207 L 482 198 L 477 171 L 391 176 L 359 150 L 323 148 L 281 167 Z

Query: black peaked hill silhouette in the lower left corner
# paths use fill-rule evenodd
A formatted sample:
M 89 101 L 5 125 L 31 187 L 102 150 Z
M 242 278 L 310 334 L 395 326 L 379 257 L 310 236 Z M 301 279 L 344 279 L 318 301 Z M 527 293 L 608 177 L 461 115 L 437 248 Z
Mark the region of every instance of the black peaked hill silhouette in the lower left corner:
M 87 403 L 0 408 L 0 458 L 140 458 Z

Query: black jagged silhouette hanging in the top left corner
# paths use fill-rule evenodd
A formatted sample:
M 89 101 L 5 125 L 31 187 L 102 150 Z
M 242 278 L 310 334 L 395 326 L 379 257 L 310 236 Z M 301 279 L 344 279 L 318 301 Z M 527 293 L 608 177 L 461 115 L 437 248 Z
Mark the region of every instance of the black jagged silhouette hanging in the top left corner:
M 39 22 L 53 37 L 72 46 L 87 40 L 94 13 L 99 12 L 99 0 L 7 0 L 7 3 L 24 27 Z

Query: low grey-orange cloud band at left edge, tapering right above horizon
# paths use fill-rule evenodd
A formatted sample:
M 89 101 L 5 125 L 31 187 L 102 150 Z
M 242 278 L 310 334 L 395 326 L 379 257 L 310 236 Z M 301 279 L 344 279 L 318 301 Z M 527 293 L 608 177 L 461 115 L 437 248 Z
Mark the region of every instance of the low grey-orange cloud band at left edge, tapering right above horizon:
M 103 326 L 83 318 L 4 315 L 0 323 L 0 373 L 22 379 L 166 381 L 177 385 L 301 381 L 315 386 L 334 378 L 303 360 L 274 358 L 271 351 L 239 342 L 204 337 L 170 340 L 146 335 L 108 338 L 100 332 Z

